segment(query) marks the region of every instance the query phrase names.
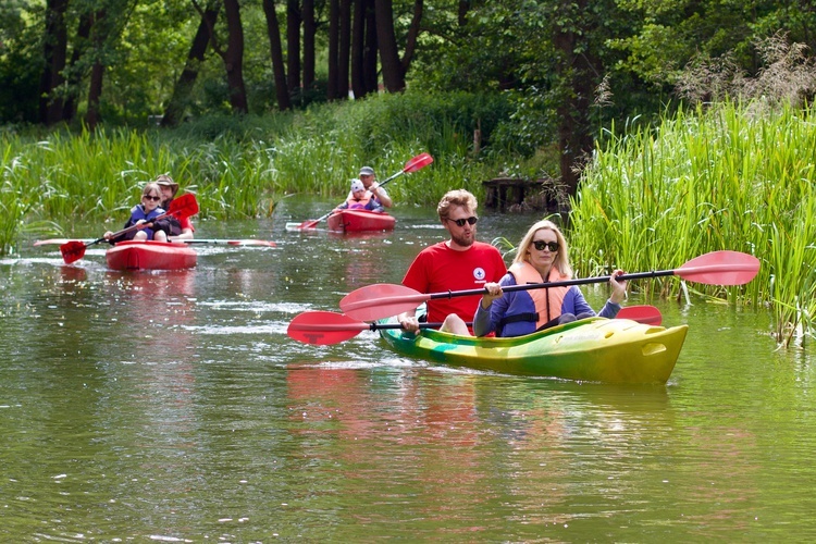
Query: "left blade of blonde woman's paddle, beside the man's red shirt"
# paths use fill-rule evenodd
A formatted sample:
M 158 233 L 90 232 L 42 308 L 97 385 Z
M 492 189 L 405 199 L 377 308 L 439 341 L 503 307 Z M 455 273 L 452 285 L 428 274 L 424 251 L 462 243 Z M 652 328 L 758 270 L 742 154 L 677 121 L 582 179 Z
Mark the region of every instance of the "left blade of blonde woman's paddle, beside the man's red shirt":
M 417 308 L 431 295 L 423 295 L 405 285 L 376 283 L 353 290 L 341 300 L 341 310 L 351 319 L 375 321 Z

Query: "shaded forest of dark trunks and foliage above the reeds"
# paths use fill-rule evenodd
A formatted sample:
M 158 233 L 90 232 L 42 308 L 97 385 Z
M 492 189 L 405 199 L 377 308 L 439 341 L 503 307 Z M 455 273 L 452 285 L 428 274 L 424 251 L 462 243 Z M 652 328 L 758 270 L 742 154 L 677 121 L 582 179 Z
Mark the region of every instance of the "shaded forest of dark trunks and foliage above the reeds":
M 0 123 L 173 127 L 463 91 L 473 156 L 544 153 L 574 195 L 613 120 L 734 89 L 812 98 L 814 29 L 806 0 L 5 0 Z

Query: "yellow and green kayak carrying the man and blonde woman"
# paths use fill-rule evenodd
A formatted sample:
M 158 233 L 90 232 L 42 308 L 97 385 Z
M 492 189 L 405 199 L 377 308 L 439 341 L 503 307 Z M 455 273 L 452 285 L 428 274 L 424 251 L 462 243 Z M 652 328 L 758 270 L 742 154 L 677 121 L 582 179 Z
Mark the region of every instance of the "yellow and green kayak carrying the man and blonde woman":
M 503 374 L 605 383 L 666 383 L 688 325 L 589 318 L 526 336 L 477 338 L 431 329 L 380 329 L 399 354 Z

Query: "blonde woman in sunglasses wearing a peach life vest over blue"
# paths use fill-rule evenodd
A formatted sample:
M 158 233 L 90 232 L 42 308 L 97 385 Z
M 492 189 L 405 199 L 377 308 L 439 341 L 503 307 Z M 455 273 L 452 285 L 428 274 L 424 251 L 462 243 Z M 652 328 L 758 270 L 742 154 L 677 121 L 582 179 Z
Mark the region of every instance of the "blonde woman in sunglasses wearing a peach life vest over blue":
M 502 287 L 528 283 L 560 282 L 572 277 L 569 247 L 561 231 L 552 221 L 533 224 L 519 243 L 516 258 L 507 274 L 496 284 L 487 284 L 473 320 L 473 333 L 484 336 L 521 336 L 542 329 L 593 316 L 614 318 L 626 299 L 627 282 L 609 279 L 611 296 L 599 313 L 590 307 L 577 285 L 514 290 Z

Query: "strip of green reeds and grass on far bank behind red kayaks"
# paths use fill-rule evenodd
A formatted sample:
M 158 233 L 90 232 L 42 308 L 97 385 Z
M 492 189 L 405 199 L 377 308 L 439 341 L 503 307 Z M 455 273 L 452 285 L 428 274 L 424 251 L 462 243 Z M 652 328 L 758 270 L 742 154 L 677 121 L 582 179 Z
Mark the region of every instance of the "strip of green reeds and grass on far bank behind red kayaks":
M 200 217 L 214 219 L 271 215 L 294 193 L 341 198 L 360 166 L 384 180 L 422 152 L 435 162 L 394 180 L 388 191 L 398 202 L 431 205 L 459 187 L 481 195 L 499 166 L 472 158 L 472 132 L 496 118 L 483 97 L 404 94 L 210 116 L 172 131 L 2 132 L 0 252 L 25 228 L 71 235 L 75 223 L 118 225 L 144 184 L 164 173 L 196 194 Z

